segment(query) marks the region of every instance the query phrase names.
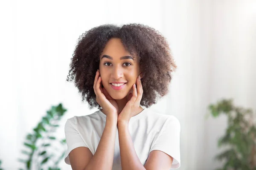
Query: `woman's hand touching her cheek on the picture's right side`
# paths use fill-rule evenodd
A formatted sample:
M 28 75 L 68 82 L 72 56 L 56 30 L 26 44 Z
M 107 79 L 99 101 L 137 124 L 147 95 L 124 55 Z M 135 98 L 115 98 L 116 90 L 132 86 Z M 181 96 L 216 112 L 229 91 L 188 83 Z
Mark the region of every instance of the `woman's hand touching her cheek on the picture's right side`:
M 133 93 L 131 96 L 131 99 L 126 103 L 125 107 L 122 109 L 122 111 L 118 115 L 117 124 L 122 122 L 128 125 L 130 119 L 132 116 L 134 116 L 134 113 L 139 110 L 140 108 L 140 101 L 143 94 L 143 88 L 140 80 L 140 76 L 136 79 L 136 85 L 133 85 Z M 129 94 L 131 95 L 131 94 Z M 130 98 L 128 95 L 128 99 Z

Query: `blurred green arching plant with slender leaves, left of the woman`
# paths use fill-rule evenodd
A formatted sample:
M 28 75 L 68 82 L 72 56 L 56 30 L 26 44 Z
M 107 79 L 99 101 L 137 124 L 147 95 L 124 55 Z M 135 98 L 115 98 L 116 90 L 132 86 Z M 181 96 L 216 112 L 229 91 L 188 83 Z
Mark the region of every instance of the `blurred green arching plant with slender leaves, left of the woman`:
M 27 156 L 27 159 L 18 159 L 24 163 L 26 170 L 34 168 L 37 170 L 60 170 L 58 163 L 64 158 L 65 149 L 62 145 L 66 144 L 66 140 L 56 139 L 54 133 L 59 127 L 58 122 L 66 111 L 61 103 L 52 106 L 33 129 L 33 132 L 26 135 L 24 142 L 26 150 L 21 150 L 21 152 Z M 60 145 L 61 149 L 58 148 Z M 53 151 L 58 154 L 55 155 Z

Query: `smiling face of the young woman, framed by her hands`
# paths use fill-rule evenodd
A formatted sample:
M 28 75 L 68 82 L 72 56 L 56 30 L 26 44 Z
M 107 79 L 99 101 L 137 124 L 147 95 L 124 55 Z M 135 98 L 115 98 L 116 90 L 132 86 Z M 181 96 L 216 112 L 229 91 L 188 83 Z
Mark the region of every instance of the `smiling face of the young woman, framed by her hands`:
M 111 38 L 100 55 L 99 71 L 108 94 L 113 99 L 123 99 L 132 90 L 132 85 L 136 84 L 140 63 L 137 56 L 133 58 L 125 50 L 119 38 Z

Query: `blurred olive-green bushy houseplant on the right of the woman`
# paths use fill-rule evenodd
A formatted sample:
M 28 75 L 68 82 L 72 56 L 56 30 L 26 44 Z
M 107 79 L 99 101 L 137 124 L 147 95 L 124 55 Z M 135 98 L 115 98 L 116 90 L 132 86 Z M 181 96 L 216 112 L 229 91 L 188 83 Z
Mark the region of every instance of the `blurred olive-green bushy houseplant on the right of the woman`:
M 233 99 L 222 99 L 209 105 L 210 114 L 218 117 L 224 114 L 228 118 L 227 129 L 218 140 L 218 147 L 227 150 L 215 159 L 224 160 L 224 166 L 218 170 L 256 170 L 256 125 L 253 111 L 236 107 Z

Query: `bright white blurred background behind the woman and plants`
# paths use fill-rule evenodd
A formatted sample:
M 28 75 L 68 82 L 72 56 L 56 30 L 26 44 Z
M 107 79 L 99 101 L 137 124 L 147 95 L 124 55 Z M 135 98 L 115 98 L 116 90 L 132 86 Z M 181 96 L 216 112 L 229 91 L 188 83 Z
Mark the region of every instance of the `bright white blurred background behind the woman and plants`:
M 221 98 L 256 111 L 255 0 L 9 0 L 0 3 L 0 160 L 22 168 L 26 135 L 52 105 L 67 109 L 64 123 L 91 114 L 66 82 L 77 39 L 106 23 L 142 23 L 169 42 L 176 60 L 169 94 L 151 108 L 180 120 L 180 170 L 213 170 L 223 162 L 218 139 L 227 116 L 213 119 L 208 105 Z M 254 120 L 255 121 L 255 118 Z M 65 150 L 66 145 L 62 148 Z M 59 162 L 62 170 L 70 165 Z M 25 169 L 25 168 L 24 168 Z

